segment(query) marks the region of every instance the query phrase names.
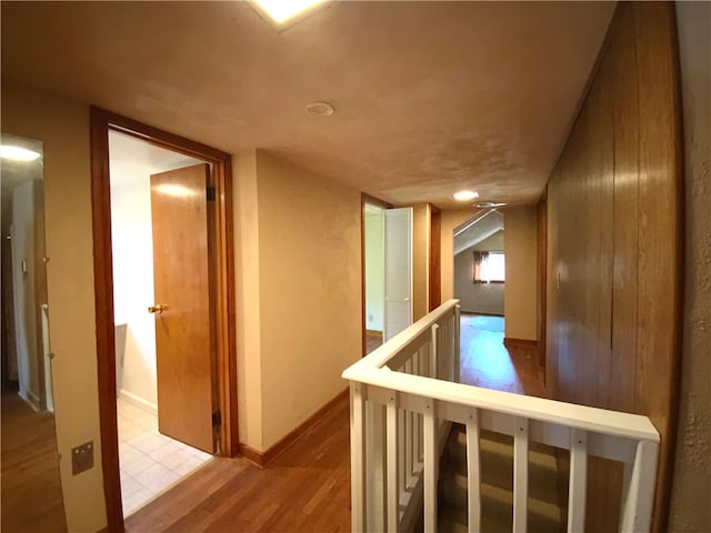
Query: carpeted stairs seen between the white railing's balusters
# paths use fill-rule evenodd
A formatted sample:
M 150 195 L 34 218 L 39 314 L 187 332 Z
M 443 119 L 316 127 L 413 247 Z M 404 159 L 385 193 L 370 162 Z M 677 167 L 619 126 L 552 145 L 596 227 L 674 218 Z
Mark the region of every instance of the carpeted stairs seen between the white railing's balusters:
M 467 444 L 461 424 L 452 430 L 442 454 L 439 481 L 439 531 L 467 532 Z M 481 531 L 511 532 L 513 524 L 513 439 L 482 431 Z M 529 449 L 528 531 L 565 531 L 567 502 L 560 496 L 555 449 L 531 443 Z

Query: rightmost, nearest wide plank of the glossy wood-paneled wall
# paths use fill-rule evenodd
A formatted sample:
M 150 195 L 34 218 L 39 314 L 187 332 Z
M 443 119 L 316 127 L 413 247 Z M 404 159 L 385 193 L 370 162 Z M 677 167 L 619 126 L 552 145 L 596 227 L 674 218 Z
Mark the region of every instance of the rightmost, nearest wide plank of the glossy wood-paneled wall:
M 681 105 L 677 24 L 668 3 L 633 4 L 640 91 L 637 410 L 662 435 L 677 429 L 681 323 Z M 660 83 L 660 80 L 662 81 Z M 657 503 L 668 504 L 673 445 Z M 662 456 L 662 460 L 667 457 Z

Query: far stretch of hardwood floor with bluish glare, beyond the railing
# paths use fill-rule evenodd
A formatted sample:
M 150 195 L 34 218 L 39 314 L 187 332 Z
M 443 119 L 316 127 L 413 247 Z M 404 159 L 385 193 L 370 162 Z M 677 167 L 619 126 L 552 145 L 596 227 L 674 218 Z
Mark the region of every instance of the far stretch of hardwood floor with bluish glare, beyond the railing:
M 461 315 L 462 383 L 545 398 L 543 372 L 533 348 L 503 345 L 503 316 Z

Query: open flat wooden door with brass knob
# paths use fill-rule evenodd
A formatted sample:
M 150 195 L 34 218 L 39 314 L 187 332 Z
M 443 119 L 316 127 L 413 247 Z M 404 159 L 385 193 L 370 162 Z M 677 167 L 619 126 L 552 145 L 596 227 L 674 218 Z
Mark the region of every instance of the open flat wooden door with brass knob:
M 151 175 L 158 429 L 216 451 L 207 163 Z

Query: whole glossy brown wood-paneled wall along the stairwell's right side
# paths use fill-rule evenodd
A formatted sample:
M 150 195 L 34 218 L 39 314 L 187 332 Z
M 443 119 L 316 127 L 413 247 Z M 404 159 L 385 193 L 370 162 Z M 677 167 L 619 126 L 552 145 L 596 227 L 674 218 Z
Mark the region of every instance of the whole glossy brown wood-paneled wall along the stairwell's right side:
M 680 366 L 678 77 L 673 6 L 620 3 L 547 191 L 548 382 L 561 400 L 652 420 L 655 531 L 665 529 Z M 589 526 L 612 531 L 620 472 L 602 470 Z

